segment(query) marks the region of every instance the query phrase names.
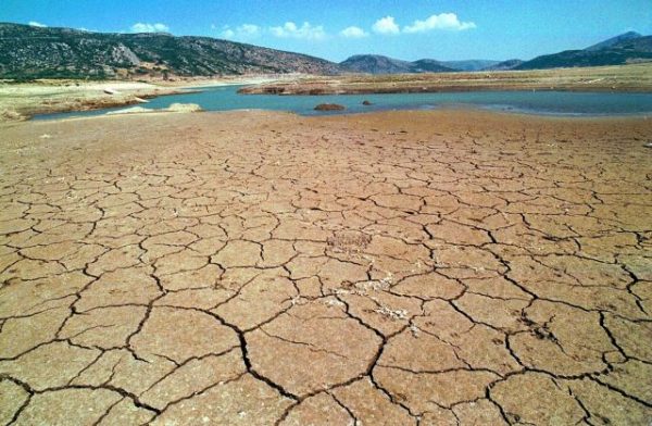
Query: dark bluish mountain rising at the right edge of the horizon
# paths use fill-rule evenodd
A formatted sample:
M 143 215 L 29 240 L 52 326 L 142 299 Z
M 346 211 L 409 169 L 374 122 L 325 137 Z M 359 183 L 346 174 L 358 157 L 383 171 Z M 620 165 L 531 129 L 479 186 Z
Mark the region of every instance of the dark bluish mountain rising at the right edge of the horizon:
M 618 37 L 622 38 L 616 40 Z M 618 37 L 584 50 L 566 50 L 560 53 L 544 54 L 524 62 L 514 70 L 625 65 L 652 61 L 652 36 L 631 37 L 631 35 L 622 35 Z M 601 45 L 603 47 L 599 48 Z

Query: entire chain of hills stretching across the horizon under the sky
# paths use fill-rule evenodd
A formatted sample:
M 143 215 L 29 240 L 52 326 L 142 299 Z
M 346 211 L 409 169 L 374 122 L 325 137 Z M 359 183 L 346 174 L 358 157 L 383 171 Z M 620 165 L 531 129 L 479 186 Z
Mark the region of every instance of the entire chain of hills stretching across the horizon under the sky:
M 303 53 L 168 33 L 93 33 L 0 23 L 0 78 L 175 78 L 253 74 L 414 74 L 546 70 L 652 61 L 652 36 L 620 34 L 529 61 L 403 61 L 356 54 L 335 63 Z

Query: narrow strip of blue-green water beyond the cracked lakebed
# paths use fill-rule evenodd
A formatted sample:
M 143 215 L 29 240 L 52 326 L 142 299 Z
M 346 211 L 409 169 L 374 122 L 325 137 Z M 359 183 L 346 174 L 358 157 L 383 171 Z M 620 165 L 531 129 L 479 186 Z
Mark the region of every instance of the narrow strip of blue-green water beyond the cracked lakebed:
M 432 110 L 440 108 L 479 108 L 504 112 L 543 115 L 645 115 L 652 114 L 652 93 L 569 92 L 569 91 L 475 91 L 441 93 L 392 95 L 328 95 L 277 96 L 238 95 L 241 86 L 199 88 L 200 92 L 162 96 L 142 106 L 167 108 L 175 102 L 198 103 L 206 111 L 274 110 L 301 115 L 350 114 L 380 110 Z M 368 100 L 371 106 L 362 102 Z M 319 103 L 339 103 L 347 106 L 341 112 L 314 111 Z M 68 118 L 101 115 L 111 108 L 97 111 L 43 114 L 35 120 Z

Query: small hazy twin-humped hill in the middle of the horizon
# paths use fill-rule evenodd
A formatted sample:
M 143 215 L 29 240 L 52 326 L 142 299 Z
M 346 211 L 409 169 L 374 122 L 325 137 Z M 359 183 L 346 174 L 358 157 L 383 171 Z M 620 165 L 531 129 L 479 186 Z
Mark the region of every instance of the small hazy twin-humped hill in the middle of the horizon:
M 451 73 L 457 71 L 431 59 L 408 62 L 378 54 L 356 54 L 340 62 L 339 65 L 343 71 L 367 74 Z

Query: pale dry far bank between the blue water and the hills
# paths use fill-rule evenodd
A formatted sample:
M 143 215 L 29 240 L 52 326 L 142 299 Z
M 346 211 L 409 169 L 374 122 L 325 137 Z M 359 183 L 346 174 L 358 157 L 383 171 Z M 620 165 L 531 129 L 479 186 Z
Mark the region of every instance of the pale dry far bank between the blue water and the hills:
M 266 75 L 223 78 L 187 78 L 174 82 L 38 80 L 0 84 L 0 122 L 24 121 L 34 115 L 97 111 L 147 104 L 161 96 L 200 92 L 211 87 L 244 86 L 241 95 L 319 96 L 488 91 L 652 92 L 652 64 L 536 72 L 441 73 L 410 75 Z M 400 110 L 400 109 L 399 109 Z M 503 111 L 512 113 L 509 111 Z M 517 111 L 518 113 L 518 111 Z M 548 114 L 536 111 L 532 115 Z M 579 114 L 578 116 L 582 116 Z M 637 114 L 638 115 L 638 114 Z M 641 114 L 643 115 L 643 114 Z M 598 115 L 601 116 L 601 115 Z

